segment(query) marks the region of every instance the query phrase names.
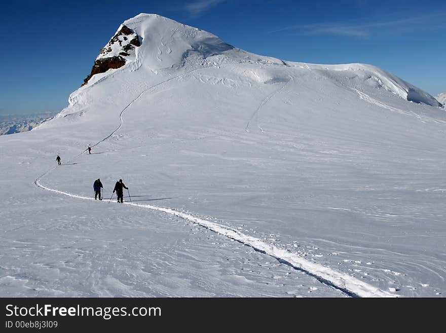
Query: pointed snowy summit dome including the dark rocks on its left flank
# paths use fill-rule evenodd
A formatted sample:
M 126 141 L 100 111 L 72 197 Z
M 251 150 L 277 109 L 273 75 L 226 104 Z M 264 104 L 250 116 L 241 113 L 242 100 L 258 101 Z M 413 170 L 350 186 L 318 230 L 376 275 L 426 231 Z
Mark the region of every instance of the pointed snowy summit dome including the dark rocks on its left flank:
M 232 49 L 234 47 L 212 33 L 157 14 L 141 13 L 121 24 L 113 38 L 100 50 L 84 85 L 94 75 L 129 62 L 135 63 L 133 69 L 144 66 L 154 71 L 181 66 L 187 58 L 202 62 L 209 56 Z

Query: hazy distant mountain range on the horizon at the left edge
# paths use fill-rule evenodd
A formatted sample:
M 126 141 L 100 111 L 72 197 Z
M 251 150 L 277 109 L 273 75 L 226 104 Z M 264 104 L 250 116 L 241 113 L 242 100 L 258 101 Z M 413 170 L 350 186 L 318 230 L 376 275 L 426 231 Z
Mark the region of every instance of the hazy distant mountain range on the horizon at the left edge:
M 27 132 L 50 120 L 55 112 L 29 115 L 0 115 L 0 135 Z

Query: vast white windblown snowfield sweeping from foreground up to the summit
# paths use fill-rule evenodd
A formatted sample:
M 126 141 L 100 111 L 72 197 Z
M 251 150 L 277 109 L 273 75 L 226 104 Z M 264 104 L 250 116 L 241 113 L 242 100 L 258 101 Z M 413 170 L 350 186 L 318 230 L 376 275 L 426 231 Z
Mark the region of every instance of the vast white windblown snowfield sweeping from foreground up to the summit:
M 444 295 L 432 96 L 157 15 L 124 24 L 142 38 L 134 60 L 0 137 L 2 297 Z M 94 201 L 96 178 L 107 199 L 122 178 L 126 203 Z

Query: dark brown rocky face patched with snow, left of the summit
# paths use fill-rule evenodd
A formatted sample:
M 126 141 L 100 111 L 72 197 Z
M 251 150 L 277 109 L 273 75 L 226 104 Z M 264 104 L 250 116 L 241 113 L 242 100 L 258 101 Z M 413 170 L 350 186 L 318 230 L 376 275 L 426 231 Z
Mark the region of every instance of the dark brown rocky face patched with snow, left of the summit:
M 135 47 L 139 46 L 141 46 L 140 37 L 132 29 L 123 25 L 101 49 L 91 68 L 91 73 L 84 79 L 82 85 L 86 85 L 93 75 L 124 66 L 128 60 L 132 60 Z

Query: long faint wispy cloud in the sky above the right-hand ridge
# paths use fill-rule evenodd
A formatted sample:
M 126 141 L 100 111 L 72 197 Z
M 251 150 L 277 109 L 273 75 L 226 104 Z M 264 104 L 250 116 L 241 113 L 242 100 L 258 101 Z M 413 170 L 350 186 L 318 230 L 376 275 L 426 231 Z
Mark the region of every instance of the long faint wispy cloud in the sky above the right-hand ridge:
M 393 21 L 377 21 L 367 22 L 362 24 L 348 24 L 342 22 L 334 23 L 315 23 L 315 24 L 301 24 L 291 25 L 281 29 L 273 30 L 270 32 L 280 32 L 286 30 L 300 30 L 307 34 L 332 34 L 339 36 L 356 37 L 361 39 L 367 39 L 378 29 L 401 29 L 408 26 L 414 26 L 414 24 L 420 24 L 427 21 L 429 18 L 436 16 L 424 16 L 424 17 L 410 17 L 401 20 Z

